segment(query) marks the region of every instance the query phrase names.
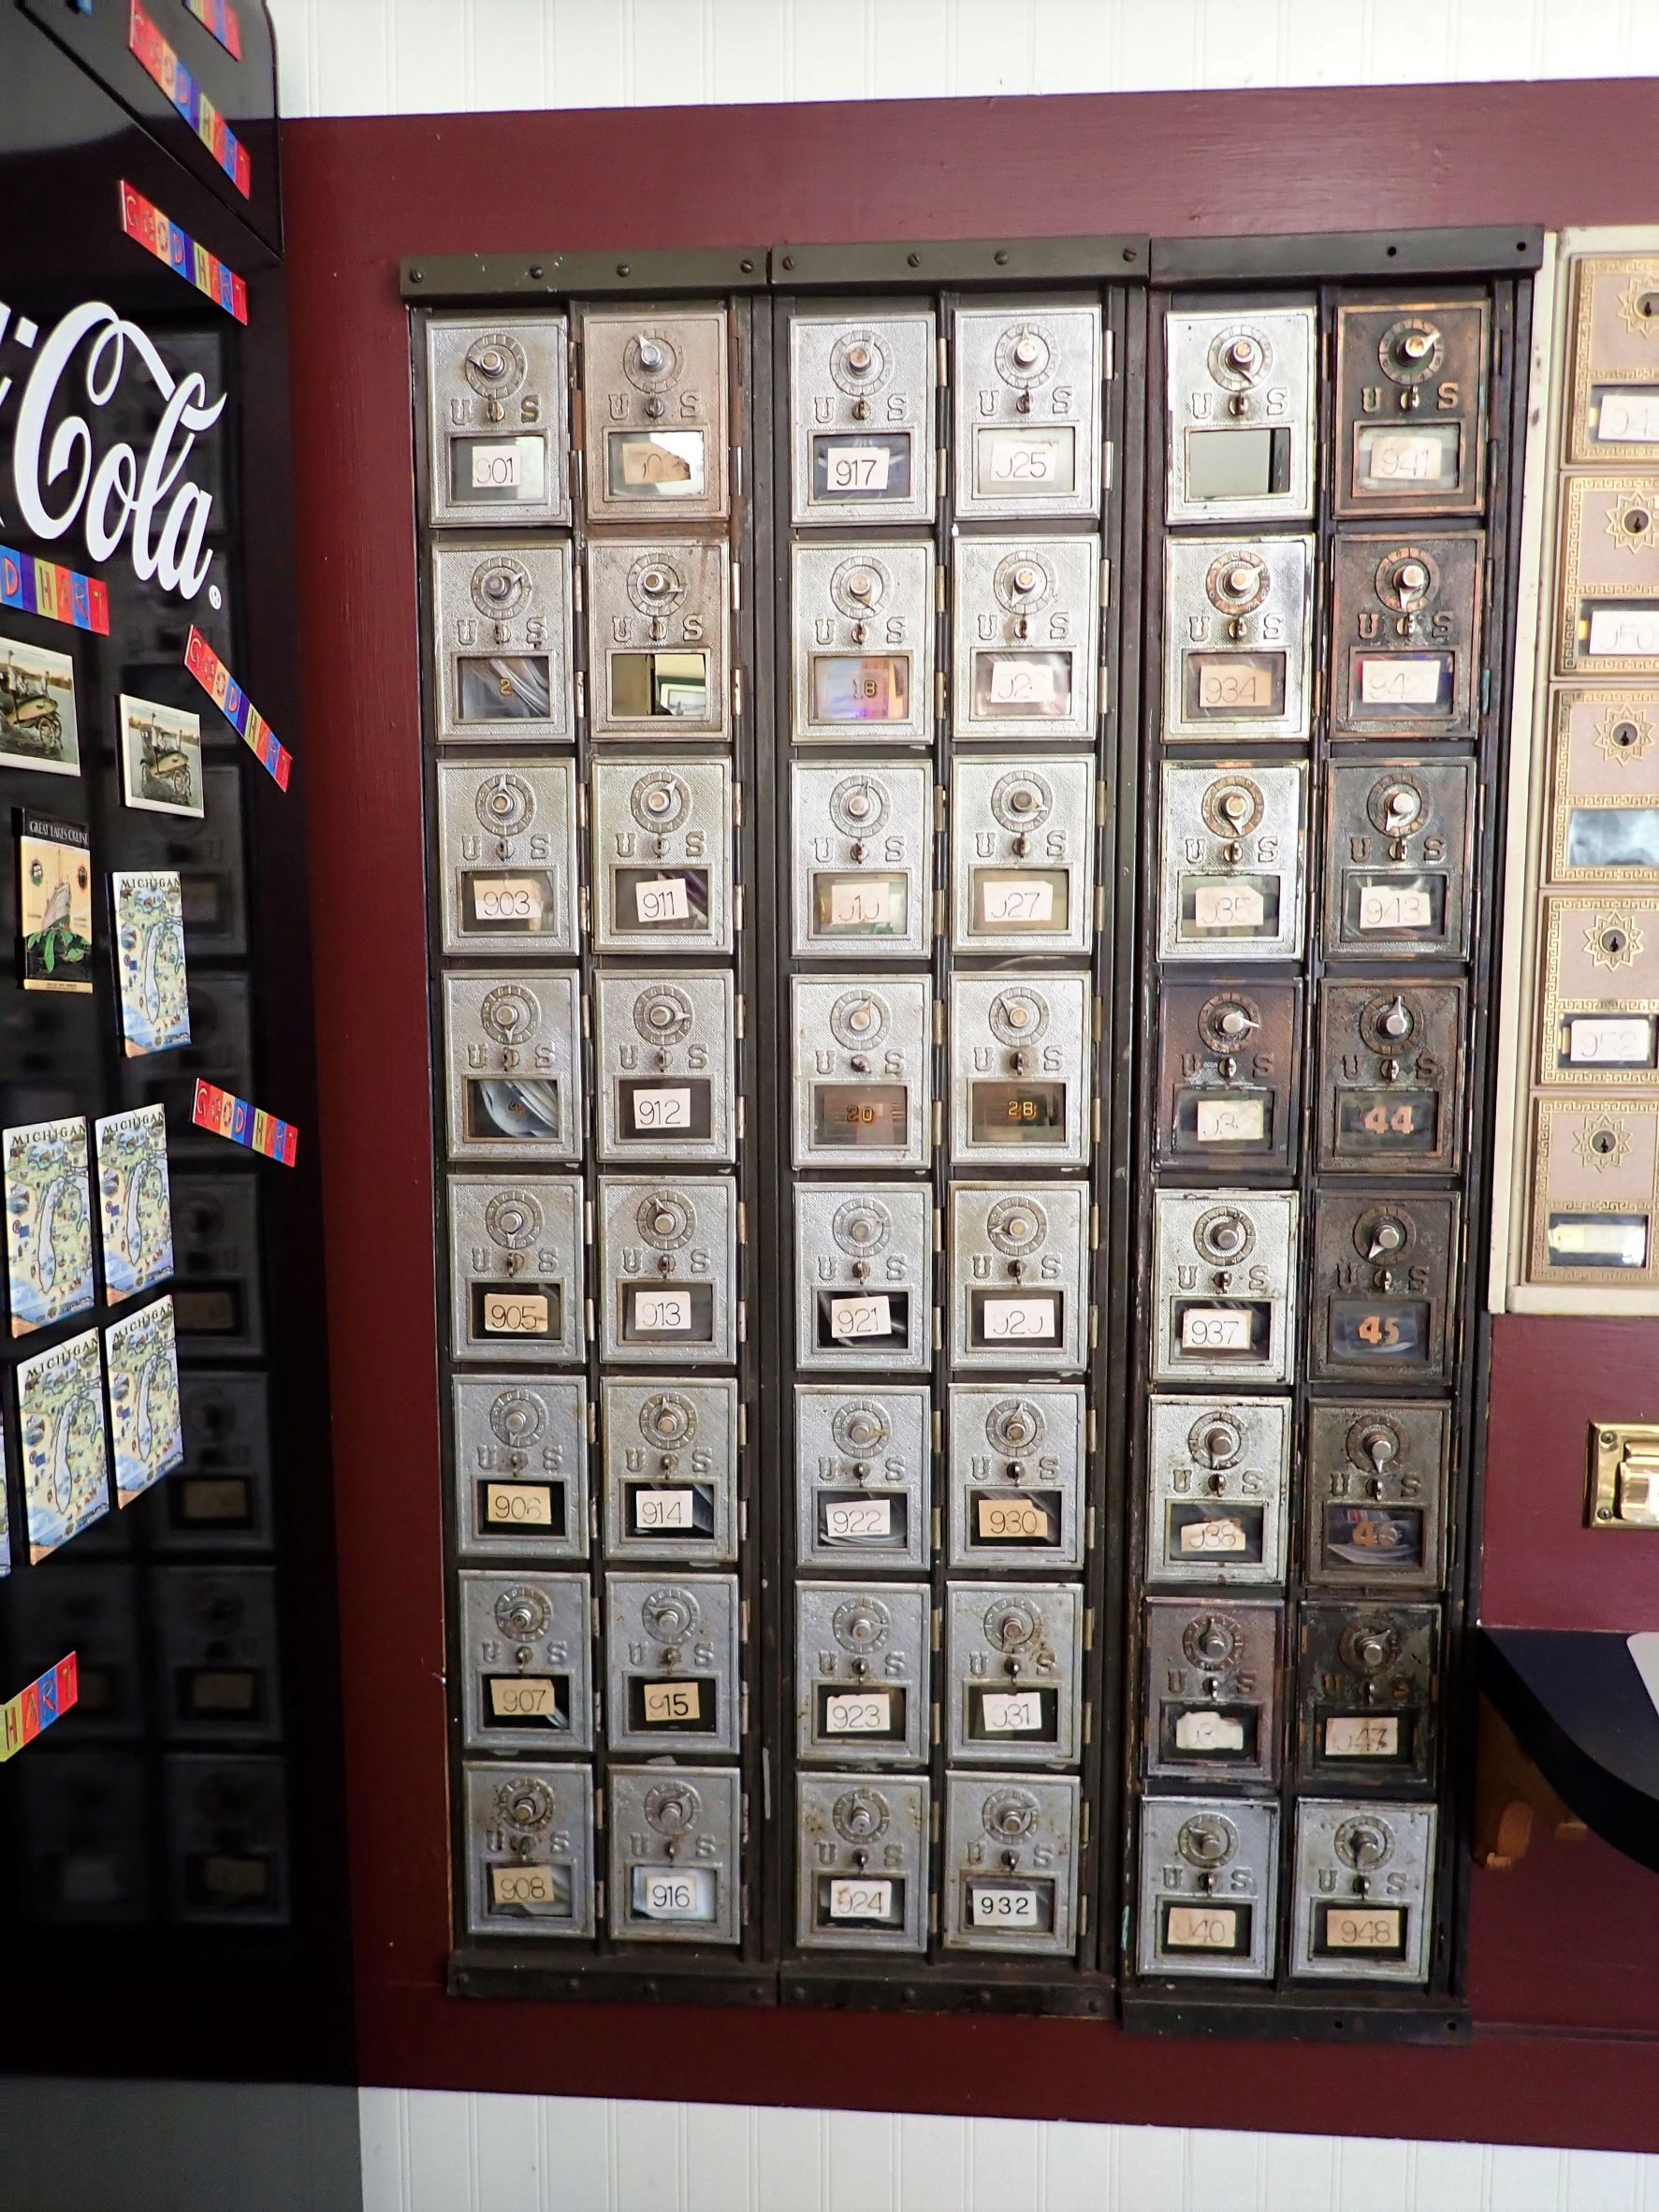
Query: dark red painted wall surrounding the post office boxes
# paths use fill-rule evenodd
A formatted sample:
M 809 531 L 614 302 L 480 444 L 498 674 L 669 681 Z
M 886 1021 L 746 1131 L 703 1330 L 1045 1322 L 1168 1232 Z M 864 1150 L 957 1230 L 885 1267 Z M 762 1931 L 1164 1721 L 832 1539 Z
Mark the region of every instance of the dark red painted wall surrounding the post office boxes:
M 1223 2059 L 1075 2022 L 670 2022 L 442 1995 L 420 712 L 396 290 L 398 257 L 416 252 L 1655 221 L 1659 86 L 301 122 L 283 155 L 363 2077 L 617 2093 L 641 2048 L 672 2048 L 684 2097 L 1186 2124 L 1201 2081 L 1210 2126 L 1659 2150 L 1657 1893 L 1595 1843 L 1546 1843 L 1513 1876 L 1475 1876 L 1473 2051 L 1243 2046 Z M 1584 1429 L 1652 1413 L 1655 1378 L 1659 1323 L 1498 1323 L 1491 1617 L 1659 1624 L 1646 1548 L 1615 1557 L 1617 1537 L 1579 1528 Z

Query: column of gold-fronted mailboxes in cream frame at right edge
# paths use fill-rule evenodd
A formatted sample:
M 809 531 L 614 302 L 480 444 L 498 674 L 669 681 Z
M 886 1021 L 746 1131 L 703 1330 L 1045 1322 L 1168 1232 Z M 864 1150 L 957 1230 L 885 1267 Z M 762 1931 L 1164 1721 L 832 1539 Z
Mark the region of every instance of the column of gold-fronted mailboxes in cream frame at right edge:
M 1540 281 L 1493 1305 L 1659 1312 L 1659 232 Z M 1531 593 L 1528 593 L 1531 597 Z

